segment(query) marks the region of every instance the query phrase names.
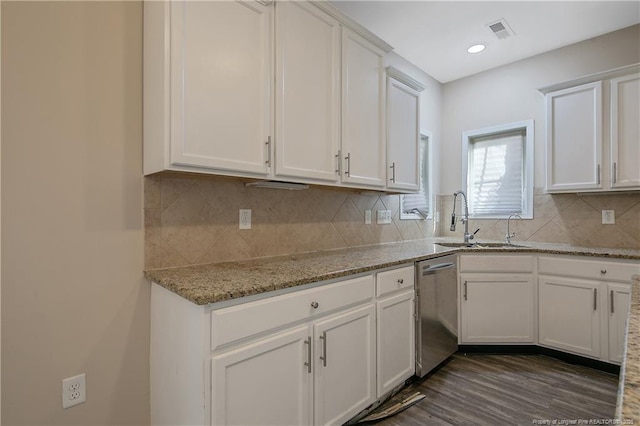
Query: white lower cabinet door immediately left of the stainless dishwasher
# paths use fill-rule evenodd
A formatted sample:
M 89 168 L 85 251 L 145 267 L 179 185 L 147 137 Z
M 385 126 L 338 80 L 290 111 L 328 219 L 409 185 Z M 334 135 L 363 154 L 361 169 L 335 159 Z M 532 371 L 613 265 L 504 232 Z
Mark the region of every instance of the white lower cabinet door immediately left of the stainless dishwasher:
M 415 372 L 414 294 L 405 291 L 376 303 L 378 398 Z

